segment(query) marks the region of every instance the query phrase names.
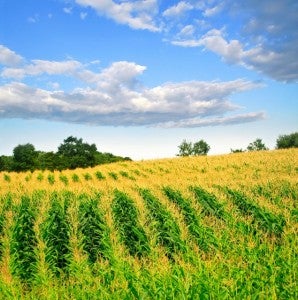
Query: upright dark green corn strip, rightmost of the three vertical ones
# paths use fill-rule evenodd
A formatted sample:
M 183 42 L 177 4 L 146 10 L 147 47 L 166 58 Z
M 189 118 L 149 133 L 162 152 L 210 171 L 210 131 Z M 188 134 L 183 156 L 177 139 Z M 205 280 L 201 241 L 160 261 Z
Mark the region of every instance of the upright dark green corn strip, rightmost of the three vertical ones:
M 83 249 L 91 263 L 98 258 L 107 259 L 111 248 L 109 228 L 98 209 L 98 199 L 84 199 L 79 206 L 79 231 L 82 235 Z

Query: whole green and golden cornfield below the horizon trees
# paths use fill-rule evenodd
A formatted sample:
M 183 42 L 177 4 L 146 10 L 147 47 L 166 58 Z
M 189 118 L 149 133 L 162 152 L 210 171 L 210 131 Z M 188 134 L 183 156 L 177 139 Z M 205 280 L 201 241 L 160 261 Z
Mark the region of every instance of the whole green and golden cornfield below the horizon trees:
M 0 173 L 1 299 L 297 299 L 298 151 Z

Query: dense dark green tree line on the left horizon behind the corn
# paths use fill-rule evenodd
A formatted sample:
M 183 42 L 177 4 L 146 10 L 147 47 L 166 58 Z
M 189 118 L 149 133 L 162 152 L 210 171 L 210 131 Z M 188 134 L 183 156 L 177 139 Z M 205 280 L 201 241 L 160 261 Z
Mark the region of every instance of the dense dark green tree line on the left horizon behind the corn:
M 37 151 L 30 143 L 16 146 L 12 156 L 0 156 L 0 171 L 61 171 L 126 160 L 131 159 L 99 152 L 95 144 L 69 136 L 58 147 L 57 152 Z

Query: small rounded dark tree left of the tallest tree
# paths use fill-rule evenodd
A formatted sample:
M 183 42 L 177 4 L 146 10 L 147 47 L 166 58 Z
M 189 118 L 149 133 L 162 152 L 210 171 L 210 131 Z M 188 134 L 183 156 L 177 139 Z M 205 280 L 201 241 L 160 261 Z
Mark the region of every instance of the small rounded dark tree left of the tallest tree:
M 32 144 L 18 145 L 13 149 L 13 170 L 33 171 L 36 168 L 38 152 Z

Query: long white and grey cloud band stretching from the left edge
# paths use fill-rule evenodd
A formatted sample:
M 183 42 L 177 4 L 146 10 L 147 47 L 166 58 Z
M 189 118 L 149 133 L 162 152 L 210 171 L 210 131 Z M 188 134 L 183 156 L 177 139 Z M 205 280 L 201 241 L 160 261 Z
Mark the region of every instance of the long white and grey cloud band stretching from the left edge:
M 88 66 L 73 60 L 33 60 L 23 68 L 5 68 L 2 77 L 10 75 L 19 81 L 0 86 L 0 117 L 114 126 L 209 126 L 224 124 L 219 117 L 240 109 L 229 100 L 231 95 L 261 86 L 239 79 L 165 83 L 148 88 L 138 80 L 146 70 L 145 66 L 119 61 L 97 73 Z M 50 90 L 20 81 L 25 76 L 34 78 L 42 74 L 53 79 L 57 74 L 72 76 L 81 80 L 85 87 L 65 92 L 55 90 L 61 89 L 56 81 L 49 81 Z M 227 124 L 247 122 L 242 115 L 237 121 L 227 118 Z

